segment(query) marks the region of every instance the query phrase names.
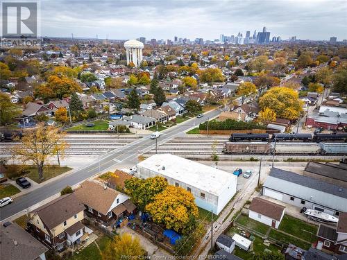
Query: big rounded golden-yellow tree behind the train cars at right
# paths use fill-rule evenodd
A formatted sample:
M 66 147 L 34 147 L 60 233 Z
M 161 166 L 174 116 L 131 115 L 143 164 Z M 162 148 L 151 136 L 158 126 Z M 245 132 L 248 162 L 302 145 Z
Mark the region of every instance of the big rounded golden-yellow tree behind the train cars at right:
M 262 110 L 269 107 L 276 112 L 277 118 L 294 120 L 303 111 L 302 101 L 298 98 L 298 92 L 288 87 L 273 87 L 259 99 Z

